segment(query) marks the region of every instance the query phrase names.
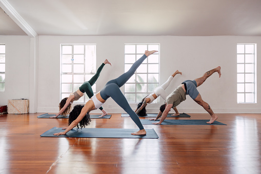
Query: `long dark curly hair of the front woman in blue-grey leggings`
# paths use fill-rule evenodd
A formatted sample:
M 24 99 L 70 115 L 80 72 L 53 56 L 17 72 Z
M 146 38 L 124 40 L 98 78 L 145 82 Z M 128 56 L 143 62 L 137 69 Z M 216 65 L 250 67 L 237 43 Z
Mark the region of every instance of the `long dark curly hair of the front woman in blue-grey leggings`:
M 69 122 L 68 125 L 70 125 L 74 120 L 76 120 L 81 113 L 83 109 L 83 105 L 75 105 L 73 110 L 70 112 L 69 115 Z M 81 129 L 85 126 L 88 126 L 91 122 L 90 114 L 87 112 L 87 114 L 84 116 L 84 118 L 79 122 L 79 124 L 76 125 L 77 130 L 81 127 Z

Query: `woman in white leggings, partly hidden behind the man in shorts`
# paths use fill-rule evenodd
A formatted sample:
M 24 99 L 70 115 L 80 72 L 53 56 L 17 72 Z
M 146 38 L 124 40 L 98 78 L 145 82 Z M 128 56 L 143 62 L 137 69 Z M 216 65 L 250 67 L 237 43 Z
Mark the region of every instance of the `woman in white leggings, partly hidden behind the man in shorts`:
M 161 96 L 164 100 L 166 100 L 166 98 L 168 96 L 168 94 L 166 93 L 166 89 L 176 74 L 182 75 L 182 72 L 179 72 L 178 70 L 176 70 L 162 86 L 156 87 L 154 89 L 153 93 L 147 95 L 142 100 L 142 102 L 138 103 L 137 108 L 135 110 L 135 112 L 138 116 L 146 116 L 147 104 L 152 103 L 155 99 L 158 98 L 158 96 Z M 174 108 L 174 110 L 176 113 L 178 113 L 176 108 Z

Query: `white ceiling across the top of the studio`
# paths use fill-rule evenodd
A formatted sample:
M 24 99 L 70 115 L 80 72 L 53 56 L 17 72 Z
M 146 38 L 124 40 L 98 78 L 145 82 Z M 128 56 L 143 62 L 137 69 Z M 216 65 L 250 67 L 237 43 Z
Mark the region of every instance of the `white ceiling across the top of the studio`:
M 261 36 L 261 0 L 0 0 L 6 9 L 1 2 L 38 35 Z M 0 35 L 27 35 L 2 9 Z

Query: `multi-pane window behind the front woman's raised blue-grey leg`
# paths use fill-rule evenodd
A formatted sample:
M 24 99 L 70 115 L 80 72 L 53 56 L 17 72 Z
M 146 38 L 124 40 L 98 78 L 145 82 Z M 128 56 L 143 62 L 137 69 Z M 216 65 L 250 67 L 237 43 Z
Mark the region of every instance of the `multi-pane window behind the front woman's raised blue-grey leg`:
M 125 72 L 144 54 L 145 50 L 159 50 L 159 44 L 125 44 Z M 139 103 L 158 86 L 159 52 L 156 52 L 138 67 L 135 74 L 124 85 L 125 97 L 129 103 Z M 159 103 L 159 98 L 153 103 Z

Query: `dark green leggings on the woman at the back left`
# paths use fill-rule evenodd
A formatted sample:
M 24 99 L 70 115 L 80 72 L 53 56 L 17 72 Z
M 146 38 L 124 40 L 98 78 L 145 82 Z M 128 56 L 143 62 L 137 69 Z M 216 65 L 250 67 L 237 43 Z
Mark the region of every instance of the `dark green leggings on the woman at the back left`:
M 79 87 L 79 90 L 83 93 L 86 92 L 86 94 L 90 99 L 93 96 L 92 85 L 94 85 L 94 83 L 97 81 L 99 74 L 101 73 L 104 65 L 105 64 L 103 63 L 101 66 L 99 66 L 95 75 L 93 75 L 93 77 L 89 81 L 83 83 L 83 85 Z M 103 107 L 100 107 L 99 109 L 103 110 Z

